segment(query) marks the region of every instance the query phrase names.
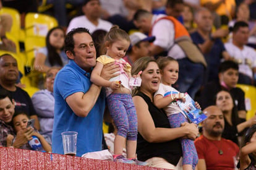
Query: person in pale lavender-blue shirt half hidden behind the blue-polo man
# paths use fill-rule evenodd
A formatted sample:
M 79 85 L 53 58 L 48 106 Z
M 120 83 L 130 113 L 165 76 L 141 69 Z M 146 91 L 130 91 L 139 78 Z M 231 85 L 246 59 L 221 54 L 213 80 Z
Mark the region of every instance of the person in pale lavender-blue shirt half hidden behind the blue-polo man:
M 46 72 L 45 90 L 37 91 L 32 96 L 32 103 L 40 122 L 40 134 L 51 138 L 54 120 L 53 83 L 60 68 L 52 67 Z

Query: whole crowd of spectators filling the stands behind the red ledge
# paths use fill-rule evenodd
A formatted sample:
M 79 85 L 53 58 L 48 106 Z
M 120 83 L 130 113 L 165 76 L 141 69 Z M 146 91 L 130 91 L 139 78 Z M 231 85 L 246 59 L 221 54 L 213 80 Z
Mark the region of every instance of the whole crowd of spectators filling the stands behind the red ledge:
M 18 11 L 23 39 L 4 9 Z M 237 87 L 256 88 L 255 9 L 256 0 L 0 0 L 0 147 L 33 150 L 37 137 L 64 154 L 61 133 L 75 131 L 76 156 L 109 149 L 116 162 L 184 170 L 234 169 L 240 156 L 241 170 L 256 169 L 256 116 Z M 26 35 L 28 13 L 57 22 Z M 27 49 L 31 37 L 43 45 Z M 201 124 L 174 106 L 186 94 L 207 115 Z

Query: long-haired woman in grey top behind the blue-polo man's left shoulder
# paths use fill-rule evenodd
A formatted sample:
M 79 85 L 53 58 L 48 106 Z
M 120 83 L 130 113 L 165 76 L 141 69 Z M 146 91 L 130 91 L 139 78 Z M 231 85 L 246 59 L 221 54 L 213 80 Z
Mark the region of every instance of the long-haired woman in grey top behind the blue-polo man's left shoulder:
M 54 27 L 46 35 L 46 47 L 36 53 L 34 69 L 47 72 L 51 67 L 63 67 L 68 62 L 64 48 L 65 32 L 61 27 Z

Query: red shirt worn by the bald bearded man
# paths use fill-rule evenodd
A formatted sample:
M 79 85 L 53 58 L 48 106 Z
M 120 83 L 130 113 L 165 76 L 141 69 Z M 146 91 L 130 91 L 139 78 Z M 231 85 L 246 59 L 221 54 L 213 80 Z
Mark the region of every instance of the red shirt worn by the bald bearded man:
M 195 140 L 195 148 L 198 159 L 205 159 L 207 170 L 234 170 L 233 156 L 238 155 L 239 147 L 231 140 L 209 140 L 201 135 Z M 219 150 L 223 155 L 218 153 Z

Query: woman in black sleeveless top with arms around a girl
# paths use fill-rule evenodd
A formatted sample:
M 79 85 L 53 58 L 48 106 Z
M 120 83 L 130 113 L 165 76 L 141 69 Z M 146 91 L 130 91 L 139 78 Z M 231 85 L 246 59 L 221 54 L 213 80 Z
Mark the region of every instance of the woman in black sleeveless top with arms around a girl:
M 137 157 L 152 167 L 182 169 L 182 149 L 179 138 L 195 139 L 198 129 L 185 122 L 182 127 L 171 128 L 168 117 L 153 104 L 153 94 L 160 85 L 158 64 L 150 57 L 141 57 L 132 66 L 132 75 L 140 71 L 141 86 L 133 93 L 138 117 Z

